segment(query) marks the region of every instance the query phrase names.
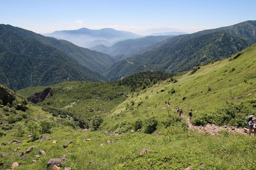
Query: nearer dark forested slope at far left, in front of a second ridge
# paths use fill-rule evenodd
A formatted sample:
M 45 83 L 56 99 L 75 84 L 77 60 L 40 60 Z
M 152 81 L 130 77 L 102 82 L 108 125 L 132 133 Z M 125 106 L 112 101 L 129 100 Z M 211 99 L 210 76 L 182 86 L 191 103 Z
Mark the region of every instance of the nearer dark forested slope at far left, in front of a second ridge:
M 67 80 L 104 79 L 57 48 L 26 38 L 3 25 L 0 26 L 0 60 L 0 83 L 15 90 Z

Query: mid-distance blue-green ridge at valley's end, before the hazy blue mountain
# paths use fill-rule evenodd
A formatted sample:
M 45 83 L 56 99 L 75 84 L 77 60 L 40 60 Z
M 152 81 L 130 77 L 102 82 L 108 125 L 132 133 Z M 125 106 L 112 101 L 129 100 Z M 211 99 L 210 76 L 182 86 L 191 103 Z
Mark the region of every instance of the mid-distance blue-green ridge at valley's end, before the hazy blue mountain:
M 164 41 L 171 37 L 174 37 L 174 35 L 147 36 L 142 39 L 129 39 L 124 41 L 119 41 L 110 47 L 107 47 L 104 45 L 97 45 L 97 46 L 91 47 L 90 50 L 95 50 L 95 51 L 109 54 L 110 56 L 114 57 L 115 61 L 118 61 L 117 58 L 115 57 L 116 55 L 121 55 L 121 54 L 132 55 L 136 52 L 141 51 L 145 47 Z

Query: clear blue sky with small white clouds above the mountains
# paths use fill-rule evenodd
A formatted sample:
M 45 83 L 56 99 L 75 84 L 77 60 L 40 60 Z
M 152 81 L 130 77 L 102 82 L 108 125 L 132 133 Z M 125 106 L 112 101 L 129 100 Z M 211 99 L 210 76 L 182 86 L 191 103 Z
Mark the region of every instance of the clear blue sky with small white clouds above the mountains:
M 151 28 L 197 32 L 256 20 L 256 1 L 6 1 L 0 23 L 37 33 L 114 28 L 143 34 Z

